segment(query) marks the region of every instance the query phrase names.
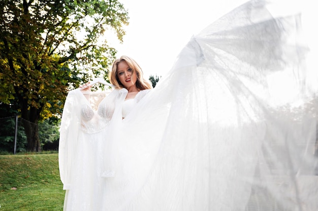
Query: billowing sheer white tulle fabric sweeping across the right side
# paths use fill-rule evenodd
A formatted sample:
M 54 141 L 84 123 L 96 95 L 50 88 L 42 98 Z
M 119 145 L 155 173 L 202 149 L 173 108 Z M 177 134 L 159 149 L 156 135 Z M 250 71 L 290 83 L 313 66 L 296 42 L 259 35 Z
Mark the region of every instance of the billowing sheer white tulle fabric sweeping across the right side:
M 193 36 L 109 132 L 102 210 L 317 210 L 299 24 L 251 1 Z

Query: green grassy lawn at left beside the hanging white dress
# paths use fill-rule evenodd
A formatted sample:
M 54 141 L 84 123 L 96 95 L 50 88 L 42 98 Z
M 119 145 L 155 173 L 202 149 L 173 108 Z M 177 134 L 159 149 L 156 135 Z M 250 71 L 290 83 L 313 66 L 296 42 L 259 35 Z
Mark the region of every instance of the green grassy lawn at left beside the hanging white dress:
M 0 211 L 63 210 L 58 154 L 0 155 Z

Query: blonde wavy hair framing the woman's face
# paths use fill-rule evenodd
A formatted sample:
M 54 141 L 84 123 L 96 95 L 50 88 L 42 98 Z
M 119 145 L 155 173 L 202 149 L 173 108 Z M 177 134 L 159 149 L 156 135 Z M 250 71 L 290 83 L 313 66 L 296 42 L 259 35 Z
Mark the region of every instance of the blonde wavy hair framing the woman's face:
M 139 91 L 152 89 L 151 82 L 148 79 L 143 77 L 143 72 L 141 70 L 141 67 L 137 64 L 137 62 L 134 59 L 128 56 L 121 56 L 119 59 L 116 59 L 113 62 L 112 70 L 109 77 L 109 80 L 112 83 L 112 85 L 115 85 L 117 89 L 125 88 L 122 86 L 117 76 L 117 65 L 118 63 L 122 61 L 125 61 L 128 64 L 128 66 L 132 68 L 132 73 L 136 71 L 136 74 L 137 74 L 136 87 Z

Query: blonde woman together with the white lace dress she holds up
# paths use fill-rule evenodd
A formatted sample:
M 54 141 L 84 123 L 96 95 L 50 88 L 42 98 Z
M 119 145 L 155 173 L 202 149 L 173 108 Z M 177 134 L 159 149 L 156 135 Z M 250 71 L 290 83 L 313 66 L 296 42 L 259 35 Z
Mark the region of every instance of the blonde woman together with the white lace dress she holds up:
M 105 182 L 115 176 L 112 141 L 121 121 L 152 89 L 140 66 L 114 61 L 111 93 L 91 92 L 89 83 L 68 94 L 63 109 L 59 168 L 66 191 L 64 210 L 101 210 Z

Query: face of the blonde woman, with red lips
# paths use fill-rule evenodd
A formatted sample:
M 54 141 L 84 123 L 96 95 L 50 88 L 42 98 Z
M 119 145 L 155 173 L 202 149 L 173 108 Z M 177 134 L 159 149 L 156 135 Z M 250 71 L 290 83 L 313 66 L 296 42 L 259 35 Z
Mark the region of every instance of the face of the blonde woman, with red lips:
M 117 77 L 121 82 L 122 86 L 126 89 L 136 87 L 137 74 L 136 71 L 133 73 L 126 61 L 120 61 L 117 64 Z

